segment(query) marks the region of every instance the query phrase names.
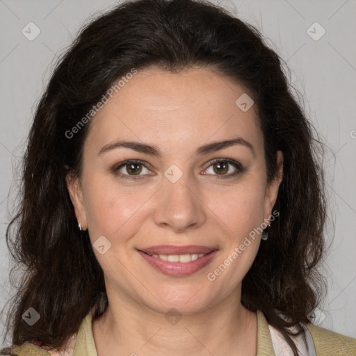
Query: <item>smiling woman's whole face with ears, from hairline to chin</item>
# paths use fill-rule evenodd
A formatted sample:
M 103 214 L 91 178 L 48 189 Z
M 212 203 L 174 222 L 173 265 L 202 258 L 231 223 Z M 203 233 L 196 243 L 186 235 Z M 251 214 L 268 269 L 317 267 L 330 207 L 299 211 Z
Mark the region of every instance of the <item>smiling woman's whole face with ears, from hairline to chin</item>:
M 92 118 L 68 188 L 109 302 L 193 314 L 240 299 L 280 184 L 250 100 L 213 70 L 150 68 Z

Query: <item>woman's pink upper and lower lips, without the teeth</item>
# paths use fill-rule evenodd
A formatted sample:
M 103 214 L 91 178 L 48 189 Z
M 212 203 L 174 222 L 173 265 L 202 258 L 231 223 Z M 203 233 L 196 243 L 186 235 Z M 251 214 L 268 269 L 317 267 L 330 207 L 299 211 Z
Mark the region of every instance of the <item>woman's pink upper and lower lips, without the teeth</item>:
M 158 248 L 159 249 L 156 249 Z M 205 248 L 205 251 L 208 252 L 197 252 L 197 251 L 202 251 L 202 246 L 183 246 L 184 248 L 183 252 L 180 252 L 179 246 L 170 246 L 169 249 L 162 250 L 162 246 L 155 246 L 154 251 L 161 251 L 160 253 L 154 252 L 154 254 L 184 254 L 184 253 L 206 253 L 203 257 L 200 257 L 198 259 L 195 259 L 195 261 L 187 262 L 187 263 L 182 263 L 182 262 L 169 262 L 169 261 L 163 261 L 163 259 L 160 259 L 159 257 L 153 257 L 150 254 L 147 254 L 146 252 L 143 252 L 142 250 L 138 250 L 138 253 L 156 270 L 159 270 L 161 273 L 165 275 L 170 275 L 170 276 L 175 276 L 175 277 L 184 277 L 187 275 L 193 275 L 193 273 L 196 273 L 198 270 L 201 270 L 205 266 L 207 266 L 211 259 L 216 256 L 218 253 L 218 250 L 212 250 L 211 248 Z M 168 246 L 165 246 L 165 248 L 168 248 Z M 197 249 L 199 248 L 199 249 Z M 153 249 L 153 248 L 152 248 Z M 145 249 L 147 250 L 147 249 Z M 174 250 L 174 252 L 172 252 Z M 187 250 L 193 251 L 193 252 L 187 252 Z M 150 250 L 152 251 L 152 250 Z M 179 252 L 177 252 L 179 251 Z

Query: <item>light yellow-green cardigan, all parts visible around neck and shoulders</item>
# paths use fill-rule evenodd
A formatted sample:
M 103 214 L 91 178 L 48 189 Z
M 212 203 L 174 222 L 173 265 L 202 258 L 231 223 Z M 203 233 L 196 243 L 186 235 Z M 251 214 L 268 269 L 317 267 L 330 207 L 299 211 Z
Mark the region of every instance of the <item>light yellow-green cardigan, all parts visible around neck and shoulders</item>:
M 356 356 L 356 339 L 346 337 L 336 332 L 326 330 L 312 324 L 307 324 L 312 334 L 316 356 Z M 275 356 L 264 314 L 257 311 L 257 356 Z M 50 356 L 46 350 L 33 343 L 25 342 L 13 346 L 12 352 L 18 356 Z M 92 315 L 88 314 L 79 327 L 72 356 L 97 356 L 92 337 Z

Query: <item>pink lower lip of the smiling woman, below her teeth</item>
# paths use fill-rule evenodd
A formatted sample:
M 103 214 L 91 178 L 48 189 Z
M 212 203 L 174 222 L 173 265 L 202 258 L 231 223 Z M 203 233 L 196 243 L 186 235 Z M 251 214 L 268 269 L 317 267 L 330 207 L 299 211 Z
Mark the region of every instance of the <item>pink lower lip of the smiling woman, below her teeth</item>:
M 163 259 L 160 259 L 159 257 L 150 256 L 149 254 L 142 251 L 138 251 L 138 253 L 151 266 L 159 270 L 161 273 L 176 277 L 184 277 L 186 275 L 193 275 L 193 273 L 196 273 L 198 270 L 201 270 L 207 266 L 211 259 L 216 256 L 218 250 L 214 250 L 208 254 L 205 254 L 203 257 L 195 259 L 195 261 L 186 263 L 163 261 Z

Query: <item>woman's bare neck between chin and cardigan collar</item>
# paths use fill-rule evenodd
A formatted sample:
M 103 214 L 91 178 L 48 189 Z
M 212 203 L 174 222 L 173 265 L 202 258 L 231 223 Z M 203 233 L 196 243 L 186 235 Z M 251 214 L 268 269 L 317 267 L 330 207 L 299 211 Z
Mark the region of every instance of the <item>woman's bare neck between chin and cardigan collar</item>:
M 98 356 L 186 356 L 192 350 L 194 355 L 254 356 L 257 316 L 232 297 L 197 314 L 175 316 L 109 298 L 108 309 L 92 325 Z

